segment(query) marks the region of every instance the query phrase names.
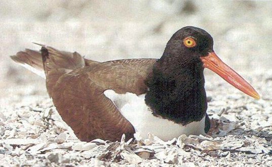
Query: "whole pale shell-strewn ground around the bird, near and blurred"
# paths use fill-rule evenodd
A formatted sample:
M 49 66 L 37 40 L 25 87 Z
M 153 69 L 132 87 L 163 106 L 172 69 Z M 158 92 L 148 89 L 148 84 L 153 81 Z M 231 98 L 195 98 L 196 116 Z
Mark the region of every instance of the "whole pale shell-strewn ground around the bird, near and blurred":
M 3 166 L 271 166 L 270 2 L 1 1 L 0 158 Z M 261 95 L 254 100 L 208 70 L 212 137 L 150 136 L 131 143 L 82 143 L 61 120 L 44 79 L 9 59 L 31 42 L 106 61 L 159 58 L 179 28 L 202 27 L 215 52 Z

